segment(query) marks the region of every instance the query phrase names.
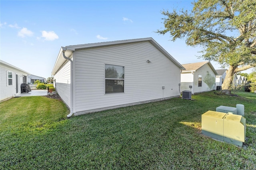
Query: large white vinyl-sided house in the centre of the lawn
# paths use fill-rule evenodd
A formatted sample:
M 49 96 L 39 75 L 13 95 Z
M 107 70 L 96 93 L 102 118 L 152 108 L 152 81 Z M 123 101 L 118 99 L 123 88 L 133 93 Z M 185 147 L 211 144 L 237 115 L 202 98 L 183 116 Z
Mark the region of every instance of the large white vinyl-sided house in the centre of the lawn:
M 179 97 L 182 69 L 155 40 L 142 38 L 61 47 L 52 75 L 70 117 Z

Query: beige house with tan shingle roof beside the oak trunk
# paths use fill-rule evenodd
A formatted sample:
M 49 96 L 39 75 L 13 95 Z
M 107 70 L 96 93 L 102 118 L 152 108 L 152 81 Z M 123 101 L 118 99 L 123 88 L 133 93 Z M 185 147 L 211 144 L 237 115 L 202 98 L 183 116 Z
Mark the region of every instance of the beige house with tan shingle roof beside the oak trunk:
M 210 61 L 182 64 L 182 66 L 185 70 L 181 73 L 181 91 L 191 91 L 195 94 L 215 89 L 215 79 L 218 73 Z

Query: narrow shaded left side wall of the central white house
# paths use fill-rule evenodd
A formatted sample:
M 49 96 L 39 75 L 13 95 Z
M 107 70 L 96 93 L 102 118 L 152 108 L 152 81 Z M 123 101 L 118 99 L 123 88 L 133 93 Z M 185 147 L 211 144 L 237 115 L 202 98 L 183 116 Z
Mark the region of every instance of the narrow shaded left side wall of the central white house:
M 70 108 L 70 61 L 64 64 L 64 66 L 54 75 L 55 88 L 62 101 Z

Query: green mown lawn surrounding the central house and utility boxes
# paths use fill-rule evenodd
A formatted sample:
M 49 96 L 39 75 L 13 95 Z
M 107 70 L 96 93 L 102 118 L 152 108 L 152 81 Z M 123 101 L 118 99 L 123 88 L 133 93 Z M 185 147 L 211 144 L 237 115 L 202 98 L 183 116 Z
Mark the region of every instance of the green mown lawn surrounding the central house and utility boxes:
M 61 101 L 0 103 L 0 169 L 256 169 L 256 94 L 193 95 L 66 119 Z M 243 148 L 201 134 L 201 115 L 243 104 Z

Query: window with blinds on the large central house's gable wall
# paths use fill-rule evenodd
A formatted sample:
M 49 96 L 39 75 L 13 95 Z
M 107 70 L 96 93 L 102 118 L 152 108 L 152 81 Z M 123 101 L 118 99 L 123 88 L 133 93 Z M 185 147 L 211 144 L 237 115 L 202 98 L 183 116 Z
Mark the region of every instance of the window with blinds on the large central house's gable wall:
M 105 65 L 105 93 L 124 93 L 124 66 Z

